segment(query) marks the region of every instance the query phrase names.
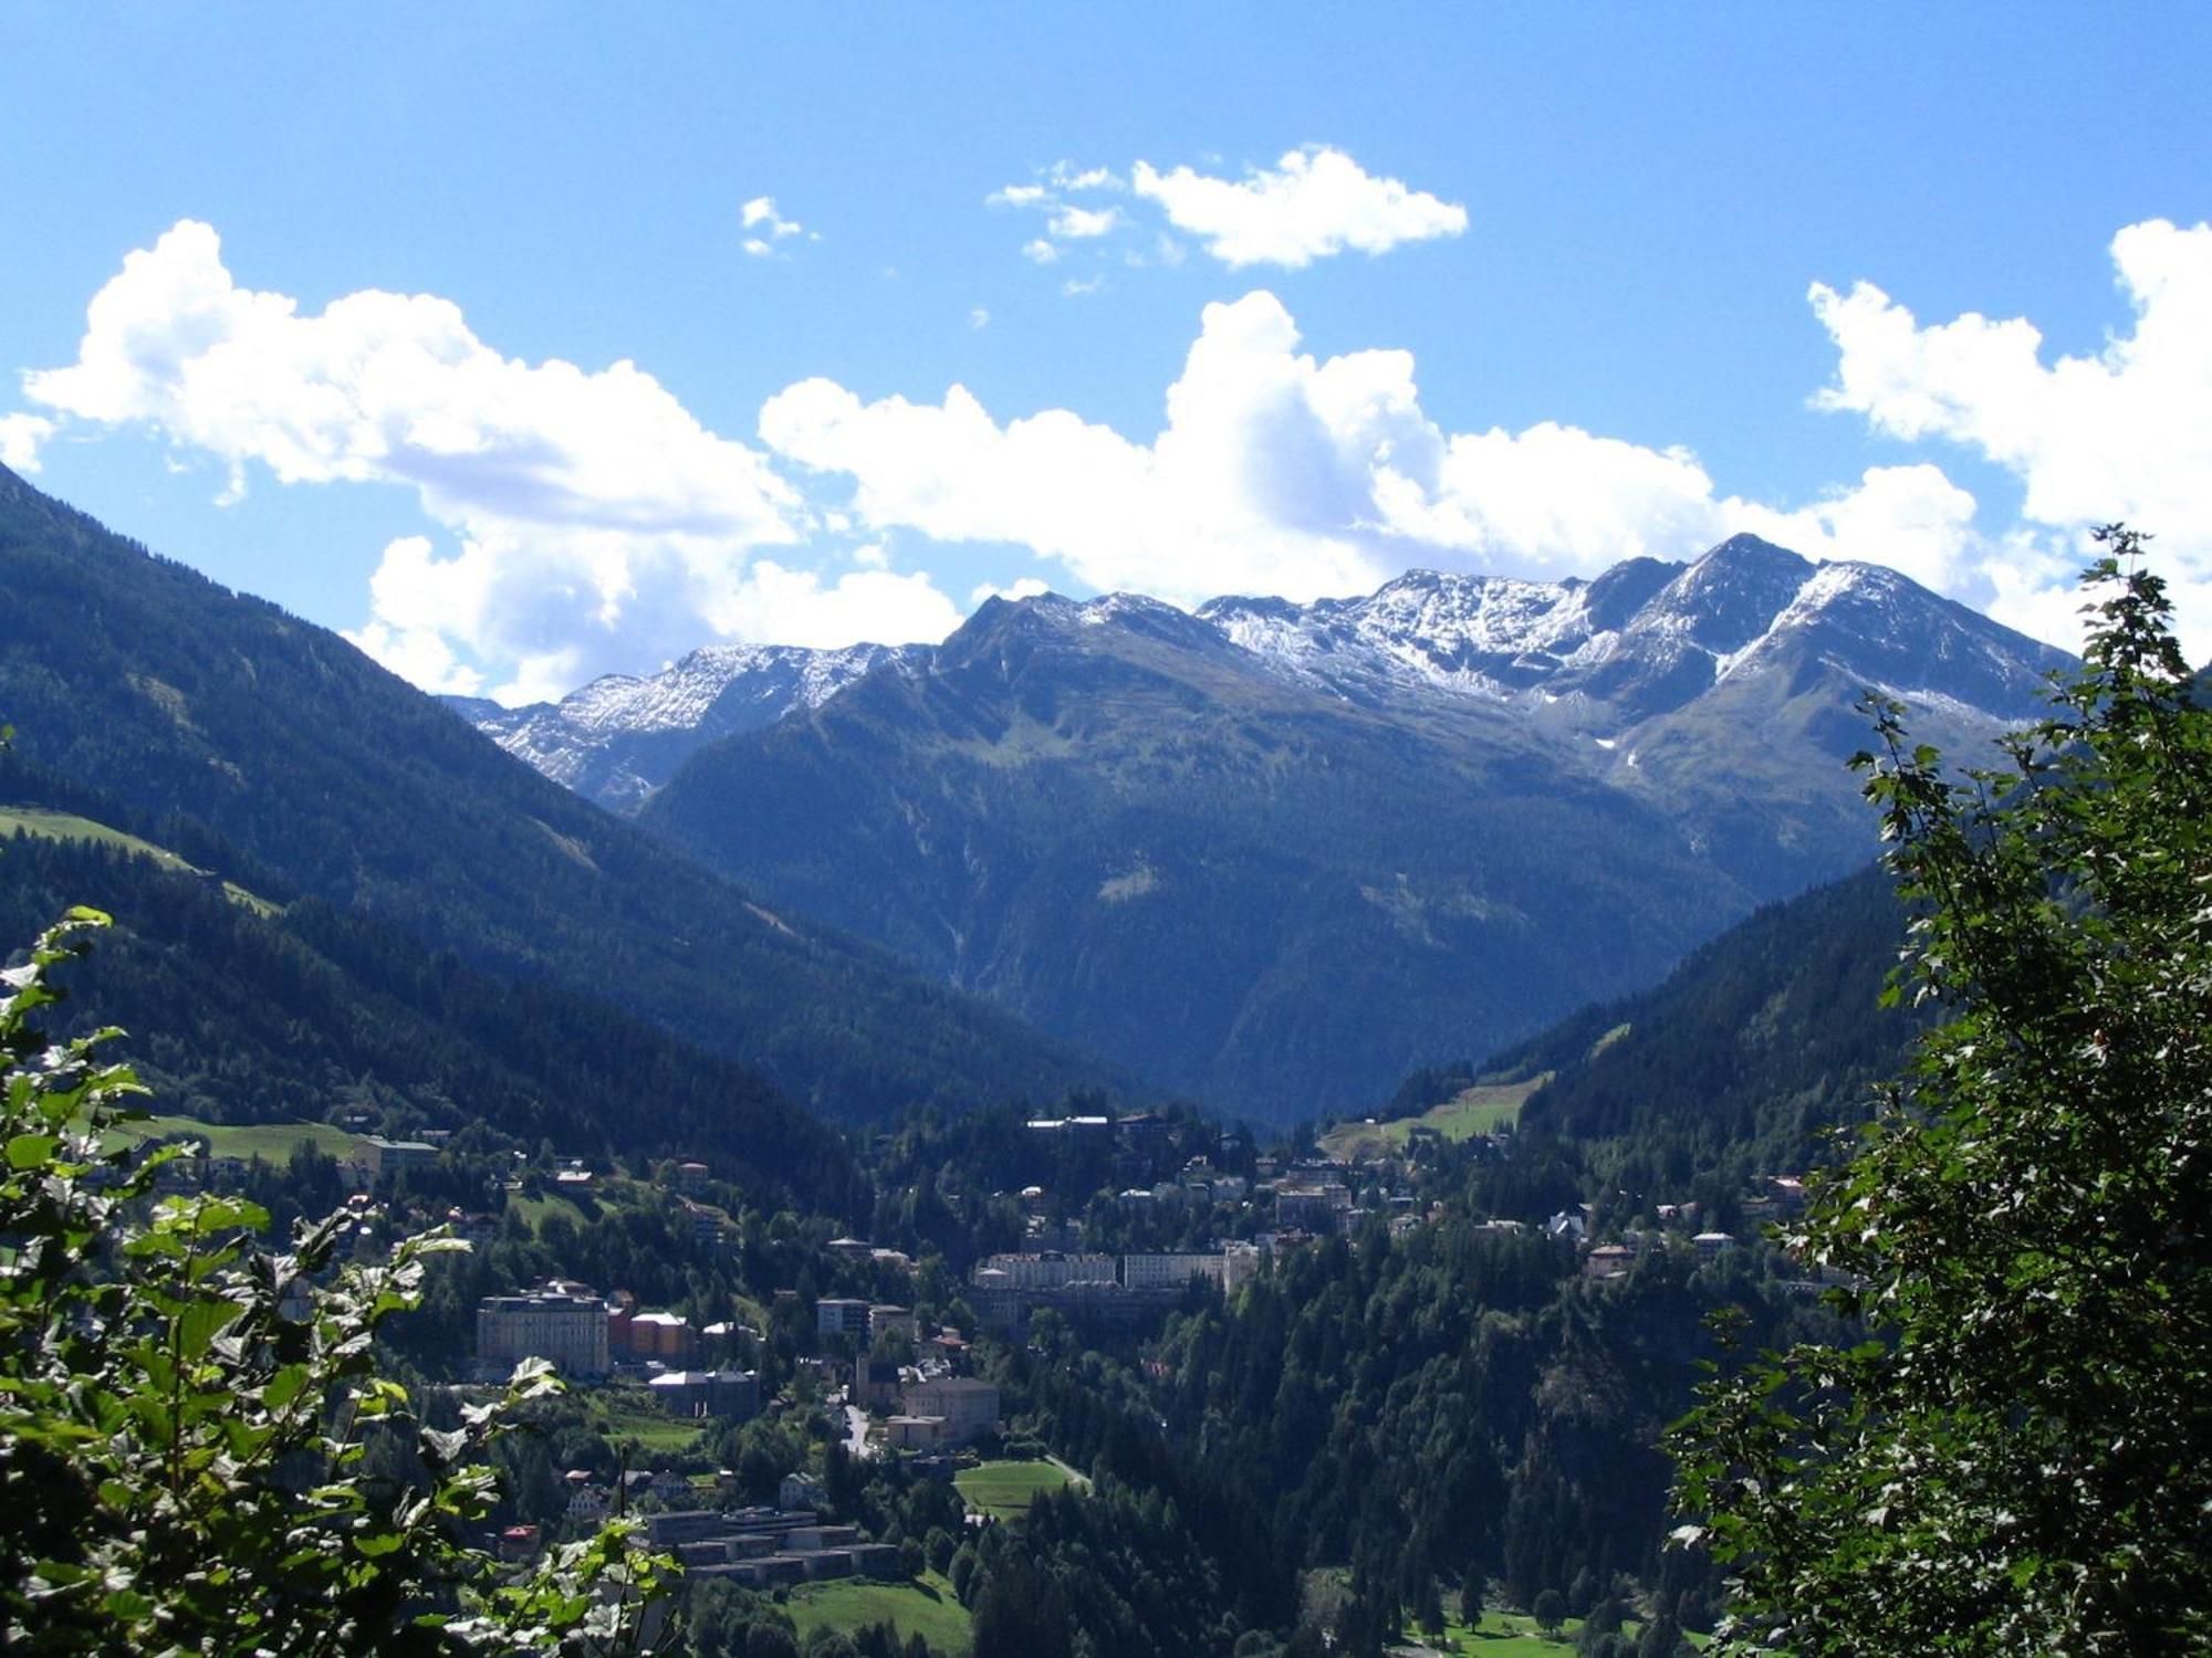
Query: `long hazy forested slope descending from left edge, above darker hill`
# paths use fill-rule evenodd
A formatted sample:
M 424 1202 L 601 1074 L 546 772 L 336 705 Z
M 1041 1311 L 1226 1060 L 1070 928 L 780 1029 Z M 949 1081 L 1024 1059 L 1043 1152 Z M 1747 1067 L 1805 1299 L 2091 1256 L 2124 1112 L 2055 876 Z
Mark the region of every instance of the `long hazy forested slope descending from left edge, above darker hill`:
M 161 825 L 192 862 L 248 860 L 254 891 L 274 880 L 493 975 L 613 1001 L 843 1116 L 1099 1074 L 772 913 L 336 634 L 155 559 L 4 469 L 0 615 L 0 707 L 22 754 Z

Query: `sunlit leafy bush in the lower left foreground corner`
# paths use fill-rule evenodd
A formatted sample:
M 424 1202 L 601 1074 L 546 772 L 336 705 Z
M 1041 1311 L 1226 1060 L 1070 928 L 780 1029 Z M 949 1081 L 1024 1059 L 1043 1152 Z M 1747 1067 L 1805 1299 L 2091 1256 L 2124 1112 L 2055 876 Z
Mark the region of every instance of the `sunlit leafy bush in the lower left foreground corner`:
M 526 1570 L 465 1541 L 495 1501 L 484 1450 L 557 1386 L 546 1366 L 451 1430 L 414 1421 L 376 1373 L 376 1326 L 414 1307 L 431 1253 L 465 1245 L 409 1238 L 332 1271 L 332 1218 L 268 1253 L 261 1209 L 157 1198 L 173 1152 L 108 1134 L 144 1092 L 97 1059 L 117 1032 L 46 1046 L 31 1024 L 104 924 L 71 911 L 0 975 L 0 1645 L 644 1651 L 664 1563 L 619 1528 Z M 418 1479 L 367 1475 L 389 1433 L 411 1433 Z

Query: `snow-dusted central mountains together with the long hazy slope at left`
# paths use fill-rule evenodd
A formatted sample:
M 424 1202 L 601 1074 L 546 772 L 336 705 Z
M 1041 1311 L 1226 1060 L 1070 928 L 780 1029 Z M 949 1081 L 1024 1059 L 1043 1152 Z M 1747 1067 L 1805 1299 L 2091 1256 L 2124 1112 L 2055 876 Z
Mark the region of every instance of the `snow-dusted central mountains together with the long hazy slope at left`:
M 11 789 L 847 1121 L 1137 1079 L 1374 1110 L 1865 862 L 1863 688 L 1971 758 L 2066 661 L 1739 537 L 1307 606 L 993 599 L 933 648 L 717 646 L 462 721 L 4 471 L 0 612 Z M 555 1114 L 602 1108 L 637 1103 Z

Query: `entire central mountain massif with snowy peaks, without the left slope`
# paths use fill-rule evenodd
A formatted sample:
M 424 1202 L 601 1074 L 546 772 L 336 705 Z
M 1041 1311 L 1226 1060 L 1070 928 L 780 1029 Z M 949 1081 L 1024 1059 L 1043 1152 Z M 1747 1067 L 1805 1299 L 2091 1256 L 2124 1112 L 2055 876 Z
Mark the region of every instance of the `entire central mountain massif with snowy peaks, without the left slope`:
M 500 718 L 549 772 L 626 772 L 615 805 L 666 769 L 639 827 L 770 902 L 1281 1123 L 1371 1110 L 1865 862 L 1863 692 L 1978 758 L 2066 661 L 1889 568 L 1734 537 L 1303 606 L 991 599 L 938 648 L 779 661 L 807 690 L 697 652 Z M 710 732 L 723 699 L 750 730 Z M 626 705 L 701 716 L 657 712 L 648 769 Z

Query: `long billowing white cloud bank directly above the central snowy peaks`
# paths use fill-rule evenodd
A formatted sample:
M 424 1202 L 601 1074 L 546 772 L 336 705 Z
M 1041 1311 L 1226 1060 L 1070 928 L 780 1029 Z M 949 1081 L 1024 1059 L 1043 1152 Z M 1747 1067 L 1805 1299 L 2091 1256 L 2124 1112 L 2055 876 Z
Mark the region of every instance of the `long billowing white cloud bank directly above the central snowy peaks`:
M 1723 497 L 1686 451 L 1544 422 L 1444 433 L 1407 351 L 1316 360 L 1267 292 L 1208 305 L 1150 444 L 1066 409 L 998 422 L 962 387 L 940 405 L 860 402 L 830 380 L 770 398 L 776 453 L 854 480 L 876 528 L 1018 542 L 1093 588 L 1181 604 L 1219 592 L 1365 592 L 1409 564 L 1590 575 L 1754 531 L 1818 557 L 1955 573 L 1973 500 L 1936 466 L 1869 471 L 1796 511 Z

